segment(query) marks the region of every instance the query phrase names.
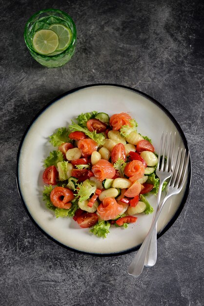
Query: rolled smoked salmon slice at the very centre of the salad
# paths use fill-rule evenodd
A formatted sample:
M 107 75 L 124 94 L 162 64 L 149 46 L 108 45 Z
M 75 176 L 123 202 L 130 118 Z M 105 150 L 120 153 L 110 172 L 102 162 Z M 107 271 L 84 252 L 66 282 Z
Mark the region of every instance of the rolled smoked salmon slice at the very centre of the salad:
M 100 159 L 92 167 L 92 172 L 100 181 L 103 181 L 105 178 L 113 178 L 116 174 L 113 165 L 105 159 Z

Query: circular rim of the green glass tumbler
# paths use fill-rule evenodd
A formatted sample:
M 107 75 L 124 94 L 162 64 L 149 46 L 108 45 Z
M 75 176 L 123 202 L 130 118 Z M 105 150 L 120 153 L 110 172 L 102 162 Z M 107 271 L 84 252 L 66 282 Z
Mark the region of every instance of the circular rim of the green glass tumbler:
M 72 40 L 71 40 L 70 44 L 68 45 L 68 47 L 65 50 L 63 50 L 62 52 L 60 52 L 59 54 L 56 54 L 56 55 L 43 55 L 43 54 L 40 54 L 40 53 L 36 52 L 36 50 L 34 48 L 30 47 L 30 45 L 28 44 L 28 40 L 27 40 L 28 24 L 33 20 L 33 18 L 35 18 L 36 16 L 38 16 L 42 13 L 46 13 L 46 12 L 57 12 L 57 13 L 60 13 L 62 15 L 65 15 L 65 17 L 67 17 L 73 25 L 73 37 L 72 37 Z M 65 13 L 65 12 L 63 12 L 59 9 L 56 9 L 56 8 L 46 8 L 44 10 L 40 10 L 40 11 L 36 12 L 26 22 L 24 32 L 23 32 L 25 44 L 28 47 L 28 49 L 30 51 L 34 52 L 36 55 L 41 56 L 42 58 L 49 58 L 49 59 L 59 57 L 59 56 L 61 56 L 61 54 L 65 53 L 68 49 L 70 49 L 73 46 L 74 42 L 76 41 L 76 34 L 77 34 L 77 29 L 76 29 L 76 25 L 75 25 L 73 19 L 67 13 Z

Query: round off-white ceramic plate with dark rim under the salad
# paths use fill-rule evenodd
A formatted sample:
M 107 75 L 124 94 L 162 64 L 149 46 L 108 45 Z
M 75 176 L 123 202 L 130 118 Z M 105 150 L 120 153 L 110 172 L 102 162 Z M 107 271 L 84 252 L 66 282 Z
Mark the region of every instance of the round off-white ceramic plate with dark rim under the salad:
M 80 87 L 65 93 L 49 103 L 34 118 L 26 130 L 17 158 L 17 185 L 22 202 L 30 218 L 42 232 L 61 245 L 93 255 L 118 255 L 139 248 L 151 225 L 153 214 L 138 215 L 135 224 L 127 229 L 111 227 L 106 239 L 100 239 L 82 229 L 71 218 L 55 218 L 46 209 L 42 200 L 42 161 L 54 148 L 49 145 L 48 136 L 57 128 L 67 126 L 71 119 L 82 112 L 96 110 L 114 113 L 127 112 L 138 122 L 138 132 L 152 139 L 156 152 L 159 150 L 162 131 L 177 132 L 177 145 L 187 149 L 183 131 L 172 117 L 154 99 L 129 87 L 114 85 L 92 85 Z M 158 220 L 160 237 L 177 219 L 183 209 L 191 181 L 191 165 L 183 191 L 171 197 L 165 204 Z M 155 206 L 156 197 L 148 197 Z

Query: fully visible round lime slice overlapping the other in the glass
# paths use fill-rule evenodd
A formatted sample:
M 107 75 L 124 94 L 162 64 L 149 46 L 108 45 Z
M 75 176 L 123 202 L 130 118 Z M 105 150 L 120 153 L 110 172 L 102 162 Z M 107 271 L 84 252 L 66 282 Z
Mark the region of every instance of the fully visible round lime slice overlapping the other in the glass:
M 56 51 L 59 45 L 59 38 L 52 30 L 40 30 L 33 36 L 33 46 L 36 52 L 49 55 Z

